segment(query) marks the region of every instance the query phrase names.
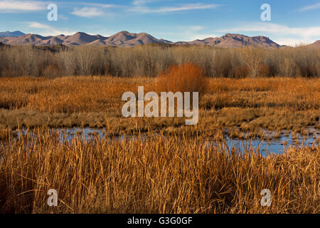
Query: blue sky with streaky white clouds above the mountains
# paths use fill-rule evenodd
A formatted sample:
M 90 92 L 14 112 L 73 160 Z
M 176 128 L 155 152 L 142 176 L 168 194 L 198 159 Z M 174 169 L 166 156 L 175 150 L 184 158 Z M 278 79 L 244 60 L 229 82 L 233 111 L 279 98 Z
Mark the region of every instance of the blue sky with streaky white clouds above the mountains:
M 58 6 L 58 21 L 47 19 L 51 3 Z M 271 21 L 261 20 L 262 4 L 270 4 Z M 294 45 L 320 39 L 320 1 L 0 0 L 0 21 L 0 31 L 44 36 L 77 31 L 110 36 L 127 30 L 170 41 L 193 41 L 241 33 Z

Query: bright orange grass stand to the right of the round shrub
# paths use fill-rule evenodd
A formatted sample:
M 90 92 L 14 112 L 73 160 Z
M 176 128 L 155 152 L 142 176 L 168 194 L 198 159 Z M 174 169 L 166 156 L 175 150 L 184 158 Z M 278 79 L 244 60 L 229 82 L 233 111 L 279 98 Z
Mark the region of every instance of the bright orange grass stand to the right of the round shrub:
M 320 78 L 215 78 L 207 101 L 221 107 L 319 110 Z

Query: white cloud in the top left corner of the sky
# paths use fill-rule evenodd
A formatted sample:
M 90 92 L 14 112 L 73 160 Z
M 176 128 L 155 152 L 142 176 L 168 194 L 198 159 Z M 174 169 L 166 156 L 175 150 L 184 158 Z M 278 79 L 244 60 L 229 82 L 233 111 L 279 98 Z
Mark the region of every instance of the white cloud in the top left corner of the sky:
M 2 13 L 14 11 L 40 11 L 46 9 L 46 3 L 43 1 L 0 1 L 0 11 Z

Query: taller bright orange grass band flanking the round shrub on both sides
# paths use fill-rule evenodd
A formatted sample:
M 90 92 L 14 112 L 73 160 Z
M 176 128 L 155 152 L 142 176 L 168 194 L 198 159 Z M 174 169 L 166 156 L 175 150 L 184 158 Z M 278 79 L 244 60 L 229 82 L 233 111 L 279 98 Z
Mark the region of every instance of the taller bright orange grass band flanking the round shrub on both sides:
M 156 90 L 154 78 L 65 77 L 1 78 L 0 108 L 27 108 L 46 112 L 107 111 L 122 106 L 126 91 Z M 319 109 L 320 79 L 213 78 L 208 79 L 201 108 L 282 107 Z M 180 88 L 179 88 L 180 89 Z

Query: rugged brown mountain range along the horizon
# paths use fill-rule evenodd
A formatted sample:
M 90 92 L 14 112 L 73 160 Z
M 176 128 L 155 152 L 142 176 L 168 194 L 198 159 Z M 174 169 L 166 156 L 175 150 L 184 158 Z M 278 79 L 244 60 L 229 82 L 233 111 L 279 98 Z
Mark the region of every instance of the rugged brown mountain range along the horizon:
M 4 36 L 1 36 L 4 34 Z M 18 36 L 22 34 L 21 36 Z M 9 35 L 9 36 L 8 36 Z M 41 36 L 36 34 L 24 34 L 20 31 L 0 33 L 0 42 L 7 45 L 33 45 L 33 46 L 53 46 L 62 44 L 65 46 L 117 46 L 129 47 L 139 46 L 148 43 L 169 43 L 175 45 L 200 45 L 200 46 L 220 46 L 220 47 L 241 47 L 255 46 L 263 48 L 279 48 L 280 45 L 275 43 L 266 36 L 244 36 L 240 34 L 227 33 L 220 37 L 209 37 L 203 40 L 195 41 L 178 41 L 171 42 L 164 39 L 154 38 L 148 33 L 129 33 L 121 31 L 112 36 L 90 35 L 87 33 L 78 32 L 71 36 L 63 34 L 58 36 Z M 319 42 L 320 41 L 316 41 Z M 315 46 L 319 46 L 315 44 Z M 313 45 L 313 44 L 312 44 Z

